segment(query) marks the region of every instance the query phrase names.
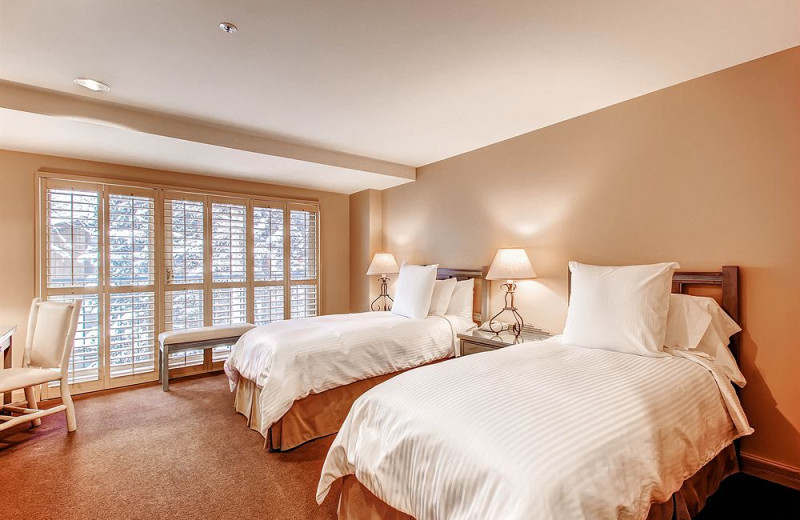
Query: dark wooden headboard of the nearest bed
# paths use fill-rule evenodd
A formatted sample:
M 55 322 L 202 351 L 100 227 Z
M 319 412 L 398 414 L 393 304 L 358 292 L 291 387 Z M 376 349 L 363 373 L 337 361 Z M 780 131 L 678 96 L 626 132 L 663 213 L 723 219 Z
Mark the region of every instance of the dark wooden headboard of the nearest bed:
M 568 291 L 572 292 L 572 272 L 569 273 Z M 711 294 L 709 294 L 711 289 Z M 710 296 L 717 300 L 720 306 L 739 322 L 739 266 L 726 265 L 721 271 L 676 271 L 672 275 L 672 292 L 676 294 L 691 294 L 701 292 L 702 296 Z M 739 361 L 739 346 L 742 333 L 731 336 L 730 349 L 736 361 Z

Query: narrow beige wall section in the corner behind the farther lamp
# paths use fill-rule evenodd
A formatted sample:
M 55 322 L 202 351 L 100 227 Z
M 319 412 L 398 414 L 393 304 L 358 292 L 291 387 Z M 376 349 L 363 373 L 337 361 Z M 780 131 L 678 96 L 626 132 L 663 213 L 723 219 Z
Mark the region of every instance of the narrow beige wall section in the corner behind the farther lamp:
M 377 279 L 366 275 L 372 256 L 381 250 L 381 192 L 350 195 L 350 311 L 369 310 L 380 292 Z

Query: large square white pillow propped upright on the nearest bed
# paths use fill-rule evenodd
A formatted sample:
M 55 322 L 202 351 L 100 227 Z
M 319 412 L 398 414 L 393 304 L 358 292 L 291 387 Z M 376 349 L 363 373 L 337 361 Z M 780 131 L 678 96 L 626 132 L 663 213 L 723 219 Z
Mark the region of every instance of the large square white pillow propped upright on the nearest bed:
M 570 262 L 564 342 L 663 356 L 675 262 L 607 267 Z

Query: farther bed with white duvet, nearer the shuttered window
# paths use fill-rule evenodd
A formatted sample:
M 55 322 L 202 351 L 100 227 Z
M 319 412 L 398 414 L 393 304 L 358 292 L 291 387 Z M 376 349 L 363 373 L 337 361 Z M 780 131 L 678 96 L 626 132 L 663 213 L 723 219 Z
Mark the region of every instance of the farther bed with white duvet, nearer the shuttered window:
M 248 331 L 225 362 L 235 409 L 273 451 L 336 433 L 369 388 L 453 356 L 457 335 L 475 326 L 476 281 L 485 296 L 480 270 L 404 264 L 391 312 L 285 320 Z

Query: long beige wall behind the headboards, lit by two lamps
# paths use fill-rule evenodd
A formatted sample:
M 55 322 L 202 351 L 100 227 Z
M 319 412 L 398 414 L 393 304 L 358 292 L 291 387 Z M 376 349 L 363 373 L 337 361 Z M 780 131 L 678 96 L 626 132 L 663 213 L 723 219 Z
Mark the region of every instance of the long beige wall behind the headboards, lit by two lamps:
M 518 304 L 554 332 L 568 260 L 740 265 L 743 451 L 800 468 L 800 48 L 420 168 L 383 192 L 383 245 L 467 268 L 526 247 Z

